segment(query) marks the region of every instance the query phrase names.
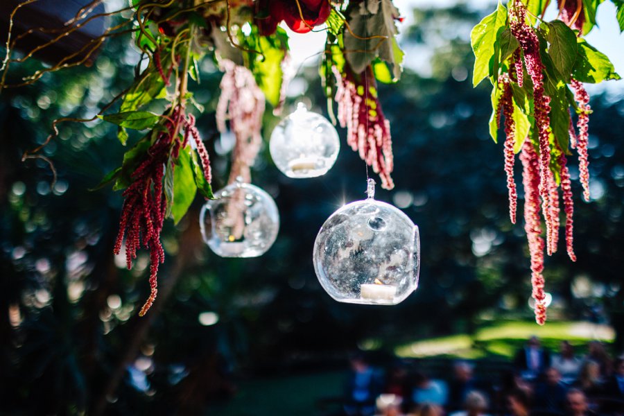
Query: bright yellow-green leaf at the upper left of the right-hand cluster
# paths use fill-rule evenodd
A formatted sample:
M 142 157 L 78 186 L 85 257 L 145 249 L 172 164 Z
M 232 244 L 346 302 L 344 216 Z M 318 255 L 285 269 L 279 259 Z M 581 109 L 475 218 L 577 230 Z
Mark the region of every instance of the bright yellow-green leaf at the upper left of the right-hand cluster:
M 470 44 L 474 52 L 472 73 L 474 87 L 488 75 L 498 76 L 499 57 L 496 39 L 499 37 L 499 32 L 504 31 L 505 21 L 507 21 L 507 9 L 499 2 L 496 11 L 484 17 L 470 33 Z M 496 71 L 494 71 L 495 67 Z

